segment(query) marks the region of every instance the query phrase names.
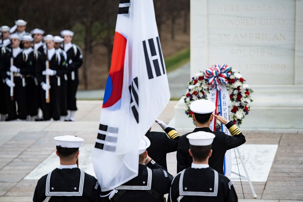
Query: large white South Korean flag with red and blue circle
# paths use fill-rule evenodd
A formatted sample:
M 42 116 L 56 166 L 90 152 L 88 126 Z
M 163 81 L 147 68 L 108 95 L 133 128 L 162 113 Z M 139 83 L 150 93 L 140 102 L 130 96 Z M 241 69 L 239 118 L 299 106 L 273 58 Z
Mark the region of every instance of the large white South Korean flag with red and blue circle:
M 138 143 L 170 99 L 152 0 L 120 0 L 92 163 L 102 191 L 138 175 Z

